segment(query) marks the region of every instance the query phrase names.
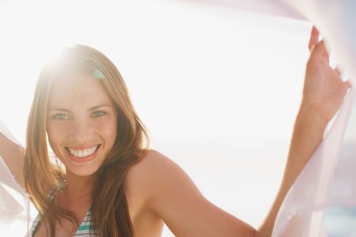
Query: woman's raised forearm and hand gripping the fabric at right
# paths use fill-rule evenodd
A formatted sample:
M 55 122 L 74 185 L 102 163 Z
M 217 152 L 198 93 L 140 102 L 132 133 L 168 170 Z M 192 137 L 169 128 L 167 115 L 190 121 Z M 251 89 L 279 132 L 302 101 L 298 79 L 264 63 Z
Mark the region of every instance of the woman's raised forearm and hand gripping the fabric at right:
M 327 123 L 341 107 L 350 83 L 341 80 L 338 69 L 329 66 L 329 54 L 319 32 L 312 28 L 310 57 L 305 71 L 303 100 L 299 109 L 289 147 L 289 156 L 281 187 L 268 217 L 256 233 L 258 237 L 270 237 L 277 212 L 296 177 L 317 149 Z

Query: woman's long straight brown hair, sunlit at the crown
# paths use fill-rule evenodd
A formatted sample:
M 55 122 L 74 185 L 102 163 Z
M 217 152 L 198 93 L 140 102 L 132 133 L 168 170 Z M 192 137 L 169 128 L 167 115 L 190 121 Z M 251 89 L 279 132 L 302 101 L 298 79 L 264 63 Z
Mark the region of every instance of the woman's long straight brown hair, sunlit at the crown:
M 117 140 L 105 161 L 95 172 L 91 191 L 91 231 L 100 236 L 131 237 L 133 226 L 128 214 L 125 196 L 128 169 L 140 161 L 148 151 L 149 137 L 138 118 L 128 90 L 117 67 L 98 50 L 75 45 L 65 48 L 60 56 L 42 69 L 29 111 L 25 151 L 25 188 L 39 210 L 41 219 L 47 219 L 51 236 L 60 217 L 70 219 L 73 228 L 79 226 L 73 212 L 59 208 L 48 201 L 48 190 L 60 189 L 65 171 L 53 165 L 47 149 L 47 107 L 53 79 L 62 72 L 89 72 L 97 77 L 117 108 Z M 47 226 L 46 226 L 47 228 Z

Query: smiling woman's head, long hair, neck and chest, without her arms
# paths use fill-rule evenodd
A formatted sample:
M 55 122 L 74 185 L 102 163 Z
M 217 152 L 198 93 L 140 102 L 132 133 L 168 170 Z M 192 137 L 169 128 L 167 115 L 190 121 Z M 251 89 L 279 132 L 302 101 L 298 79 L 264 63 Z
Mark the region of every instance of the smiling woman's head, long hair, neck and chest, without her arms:
M 65 170 L 49 163 L 46 133 Z M 77 45 L 48 63 L 27 125 L 25 188 L 41 217 L 34 236 L 132 236 L 126 173 L 147 153 L 145 140 L 124 81 L 105 55 Z M 79 223 L 89 217 L 95 225 Z

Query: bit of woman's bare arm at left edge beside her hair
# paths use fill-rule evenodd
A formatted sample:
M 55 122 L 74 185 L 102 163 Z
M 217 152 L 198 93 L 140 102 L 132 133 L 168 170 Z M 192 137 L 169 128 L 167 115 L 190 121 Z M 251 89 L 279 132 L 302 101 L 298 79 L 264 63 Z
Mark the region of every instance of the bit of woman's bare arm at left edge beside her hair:
M 25 149 L 20 144 L 16 144 L 0 132 L 0 156 L 4 159 L 6 165 L 8 165 L 8 168 L 18 184 L 25 189 L 23 177 Z

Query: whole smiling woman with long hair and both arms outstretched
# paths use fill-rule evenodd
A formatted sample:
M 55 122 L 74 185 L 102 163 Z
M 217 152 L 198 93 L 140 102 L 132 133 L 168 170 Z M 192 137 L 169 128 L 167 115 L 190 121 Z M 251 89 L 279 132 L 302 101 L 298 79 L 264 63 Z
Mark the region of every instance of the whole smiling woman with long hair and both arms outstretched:
M 284 178 L 258 230 L 207 201 L 178 165 L 147 148 L 145 126 L 105 55 L 67 48 L 39 76 L 25 154 L 0 134 L 0 155 L 39 210 L 33 236 L 152 237 L 164 222 L 176 236 L 270 236 L 286 192 L 350 87 L 329 67 L 315 28 L 309 48 Z M 65 169 L 50 162 L 46 134 Z

